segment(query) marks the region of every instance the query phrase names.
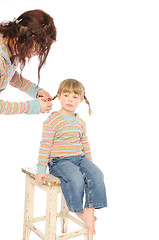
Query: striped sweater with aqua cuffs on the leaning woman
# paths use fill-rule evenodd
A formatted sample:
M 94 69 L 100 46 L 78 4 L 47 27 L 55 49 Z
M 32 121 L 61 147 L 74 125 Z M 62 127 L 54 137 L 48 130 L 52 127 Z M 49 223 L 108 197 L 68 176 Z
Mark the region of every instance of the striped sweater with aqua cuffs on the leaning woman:
M 11 64 L 7 47 L 4 43 L 2 35 L 0 34 L 0 93 L 5 90 L 9 83 L 11 86 L 18 88 L 19 90 L 29 94 L 29 96 L 35 98 L 31 101 L 19 103 L 0 100 L 0 114 L 38 114 L 40 113 L 40 103 L 39 100 L 36 99 L 36 95 L 40 88 L 36 87 L 36 84 L 33 84 L 29 80 L 21 77 L 16 71 L 17 65 L 18 61 Z

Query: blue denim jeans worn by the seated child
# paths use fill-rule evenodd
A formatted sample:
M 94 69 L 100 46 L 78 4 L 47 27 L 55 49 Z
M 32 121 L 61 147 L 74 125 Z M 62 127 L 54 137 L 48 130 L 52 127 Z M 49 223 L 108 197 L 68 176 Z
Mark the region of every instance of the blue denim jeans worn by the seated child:
M 71 212 L 84 208 L 107 207 L 106 189 L 102 171 L 84 155 L 54 158 L 49 163 L 49 171 L 58 177 Z

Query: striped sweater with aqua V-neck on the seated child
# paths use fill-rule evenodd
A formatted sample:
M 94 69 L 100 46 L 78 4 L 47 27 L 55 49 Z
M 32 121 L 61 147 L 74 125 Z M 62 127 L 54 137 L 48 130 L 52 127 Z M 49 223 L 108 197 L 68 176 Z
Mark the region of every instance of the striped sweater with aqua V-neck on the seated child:
M 37 173 L 45 173 L 48 162 L 55 157 L 85 155 L 91 158 L 86 124 L 76 116 L 53 112 L 43 124 Z

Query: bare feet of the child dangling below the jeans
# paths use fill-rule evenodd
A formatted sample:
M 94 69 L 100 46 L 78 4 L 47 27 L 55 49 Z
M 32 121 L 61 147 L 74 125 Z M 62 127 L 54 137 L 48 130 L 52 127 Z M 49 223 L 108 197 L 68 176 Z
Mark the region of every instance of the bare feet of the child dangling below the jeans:
M 96 234 L 94 222 L 97 218 L 94 217 L 94 208 L 85 208 L 83 212 L 76 213 L 76 215 L 87 225 L 93 235 Z

